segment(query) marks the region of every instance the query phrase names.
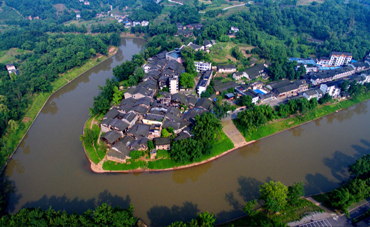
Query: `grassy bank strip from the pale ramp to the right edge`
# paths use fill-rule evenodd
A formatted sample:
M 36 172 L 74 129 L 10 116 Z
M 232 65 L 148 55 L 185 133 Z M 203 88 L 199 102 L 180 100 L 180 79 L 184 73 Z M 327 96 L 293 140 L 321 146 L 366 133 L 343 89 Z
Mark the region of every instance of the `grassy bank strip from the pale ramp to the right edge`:
M 262 139 L 266 136 L 293 128 L 295 126 L 301 125 L 302 123 L 309 122 L 311 120 L 318 119 L 320 117 L 326 116 L 331 113 L 335 113 L 341 109 L 345 109 L 360 102 L 370 99 L 370 93 L 365 93 L 357 97 L 343 100 L 340 102 L 335 102 L 330 105 L 319 105 L 315 110 L 309 111 L 304 115 L 293 116 L 286 119 L 280 119 L 276 122 L 270 122 L 267 125 L 258 127 L 256 131 L 245 132 L 244 128 L 240 126 L 237 120 L 233 120 L 236 128 L 243 134 L 247 141 Z

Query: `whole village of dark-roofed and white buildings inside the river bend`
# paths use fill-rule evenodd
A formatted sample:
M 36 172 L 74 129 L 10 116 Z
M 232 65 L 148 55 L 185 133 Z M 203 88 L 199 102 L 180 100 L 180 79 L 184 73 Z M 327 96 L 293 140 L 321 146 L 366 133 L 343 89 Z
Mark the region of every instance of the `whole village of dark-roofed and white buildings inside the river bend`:
M 219 98 L 236 105 L 238 97 L 249 95 L 253 104 L 273 107 L 291 98 L 320 99 L 326 93 L 338 98 L 344 80 L 359 84 L 370 82 L 370 75 L 365 73 L 370 69 L 370 56 L 357 62 L 351 53 L 331 52 L 329 57 L 317 60 L 291 58 L 298 62 L 296 69 L 305 67 L 307 73 L 299 80 L 269 83 L 263 82 L 269 78 L 269 61 L 240 72 L 235 65 L 212 66 L 205 61 L 195 61 L 198 72 L 195 89 L 181 88 L 179 78 L 185 72 L 181 49 L 191 47 L 194 51 L 209 52 L 212 45 L 216 45 L 214 40 L 205 40 L 204 46 L 189 43 L 148 59 L 142 66 L 145 73 L 142 81 L 127 88 L 121 102 L 99 123 L 100 139 L 108 146 L 107 160 L 126 163 L 132 151 L 147 151 L 151 147 L 154 149 L 150 151 L 150 158 L 155 159 L 157 150 L 171 149 L 171 141 L 191 137 L 195 117 L 212 111 Z M 223 82 L 228 76 L 232 80 Z M 221 79 L 215 79 L 217 77 Z M 213 94 L 201 97 L 210 88 Z M 235 111 L 243 109 L 245 107 L 238 107 Z M 172 136 L 164 137 L 164 131 Z M 151 143 L 154 146 L 149 145 Z

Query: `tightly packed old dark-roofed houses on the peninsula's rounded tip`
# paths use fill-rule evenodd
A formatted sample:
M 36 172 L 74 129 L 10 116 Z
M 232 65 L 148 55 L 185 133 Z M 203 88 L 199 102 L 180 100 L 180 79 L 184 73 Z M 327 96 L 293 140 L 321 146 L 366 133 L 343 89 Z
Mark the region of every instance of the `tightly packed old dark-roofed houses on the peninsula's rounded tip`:
M 143 66 L 142 82 L 128 88 L 120 104 L 104 115 L 100 127 L 105 134 L 101 140 L 110 147 L 106 153 L 108 160 L 126 162 L 131 151 L 147 150 L 149 140 L 155 145 L 152 158 L 158 149 L 170 150 L 171 139 L 160 137 L 162 129 L 171 128 L 176 135 L 174 141 L 191 137 L 195 116 L 209 111 L 215 97 L 179 93 L 178 78 L 184 72 L 182 62 L 179 49 L 150 58 Z M 158 93 L 164 87 L 169 87 L 170 92 Z

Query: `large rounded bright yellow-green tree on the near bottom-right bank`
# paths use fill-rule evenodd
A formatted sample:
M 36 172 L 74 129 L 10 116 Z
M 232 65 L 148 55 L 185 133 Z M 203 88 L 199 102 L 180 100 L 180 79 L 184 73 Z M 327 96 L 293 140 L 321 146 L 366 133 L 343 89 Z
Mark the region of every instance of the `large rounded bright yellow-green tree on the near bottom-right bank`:
M 265 201 L 265 207 L 269 213 L 275 213 L 286 204 L 288 188 L 280 181 L 270 180 L 260 186 L 260 193 L 259 198 Z

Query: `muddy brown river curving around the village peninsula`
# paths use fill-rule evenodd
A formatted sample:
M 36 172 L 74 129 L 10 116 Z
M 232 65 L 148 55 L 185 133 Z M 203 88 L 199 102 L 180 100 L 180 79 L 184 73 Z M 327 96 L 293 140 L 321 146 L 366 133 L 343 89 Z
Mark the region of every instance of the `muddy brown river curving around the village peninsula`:
M 370 101 L 191 169 L 136 174 L 96 174 L 79 140 L 98 85 L 112 69 L 138 53 L 142 39 L 123 38 L 118 53 L 52 95 L 9 162 L 5 176 L 16 187 L 8 210 L 93 209 L 102 202 L 122 208 L 149 225 L 187 221 L 199 212 L 217 221 L 243 214 L 246 200 L 268 180 L 303 181 L 306 194 L 334 189 L 349 175 L 347 166 L 370 153 Z

